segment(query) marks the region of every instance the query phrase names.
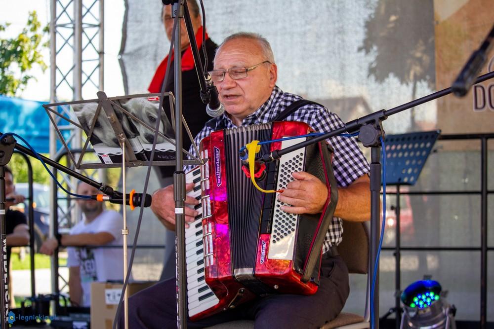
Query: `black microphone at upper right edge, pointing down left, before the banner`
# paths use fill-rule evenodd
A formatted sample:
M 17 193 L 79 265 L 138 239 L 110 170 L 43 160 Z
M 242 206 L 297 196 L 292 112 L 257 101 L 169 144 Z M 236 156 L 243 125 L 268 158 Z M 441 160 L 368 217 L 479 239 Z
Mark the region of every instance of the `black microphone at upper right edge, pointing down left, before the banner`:
M 494 26 L 480 48 L 470 56 L 468 62 L 458 74 L 456 80 L 454 80 L 451 89 L 455 96 L 463 97 L 468 93 L 480 70 L 482 70 L 484 63 L 487 61 L 487 54 L 492 46 L 491 41 L 493 38 Z

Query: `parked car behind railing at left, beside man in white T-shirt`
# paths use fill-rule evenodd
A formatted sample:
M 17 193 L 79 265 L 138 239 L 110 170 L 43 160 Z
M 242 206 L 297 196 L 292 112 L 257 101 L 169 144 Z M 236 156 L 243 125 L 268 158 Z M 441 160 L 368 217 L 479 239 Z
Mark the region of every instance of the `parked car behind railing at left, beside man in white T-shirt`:
M 28 183 L 16 183 L 15 191 L 18 194 L 22 194 L 26 197 L 24 203 L 20 203 L 14 206 L 15 209 L 26 214 L 26 217 L 29 217 L 28 207 L 29 200 L 28 198 Z M 34 241 L 35 241 L 35 251 L 37 252 L 41 247 L 43 241 L 49 235 L 50 229 L 50 198 L 51 192 L 48 185 L 33 183 L 33 212 L 34 212 Z M 59 199 L 63 198 L 62 195 L 59 194 Z M 66 213 L 66 205 L 63 205 L 63 202 L 59 201 L 59 207 L 61 209 L 58 210 L 59 218 L 63 217 L 63 214 Z

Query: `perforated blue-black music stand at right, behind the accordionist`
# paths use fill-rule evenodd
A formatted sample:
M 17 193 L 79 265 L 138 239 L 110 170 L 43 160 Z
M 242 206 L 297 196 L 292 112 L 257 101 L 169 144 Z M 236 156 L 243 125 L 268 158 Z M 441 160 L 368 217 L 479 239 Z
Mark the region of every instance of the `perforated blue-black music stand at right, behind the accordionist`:
M 386 136 L 386 186 L 396 185 L 396 328 L 400 328 L 400 185 L 414 185 L 440 131 Z M 386 220 L 386 219 L 383 219 Z M 389 313 L 387 314 L 389 315 Z

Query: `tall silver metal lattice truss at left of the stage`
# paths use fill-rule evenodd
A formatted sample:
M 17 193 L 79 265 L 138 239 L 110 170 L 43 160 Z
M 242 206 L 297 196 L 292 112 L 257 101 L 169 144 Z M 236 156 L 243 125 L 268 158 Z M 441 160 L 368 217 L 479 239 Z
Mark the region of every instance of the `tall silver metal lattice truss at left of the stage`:
M 104 0 L 50 0 L 50 103 L 61 101 L 96 98 L 96 92 L 103 90 L 103 55 L 104 55 Z M 70 117 L 69 108 L 59 107 L 59 113 Z M 58 129 L 71 148 L 81 147 L 81 131 L 61 117 L 52 116 Z M 55 127 L 50 126 L 50 158 L 59 159 L 65 149 L 57 141 Z M 74 164 L 64 165 L 74 169 Z M 94 177 L 101 171 L 91 171 L 86 176 Z M 61 172 L 58 180 L 68 190 L 76 190 L 77 182 Z M 57 189 L 54 182 L 51 189 Z M 60 213 L 54 198 L 50 202 L 51 223 L 54 214 Z M 62 221 L 80 217 L 73 207 L 63 214 Z M 58 219 L 60 220 L 60 219 Z M 52 266 L 52 291 L 58 292 L 58 261 Z M 53 273 L 52 272 L 52 273 Z M 57 303 L 58 304 L 58 303 Z

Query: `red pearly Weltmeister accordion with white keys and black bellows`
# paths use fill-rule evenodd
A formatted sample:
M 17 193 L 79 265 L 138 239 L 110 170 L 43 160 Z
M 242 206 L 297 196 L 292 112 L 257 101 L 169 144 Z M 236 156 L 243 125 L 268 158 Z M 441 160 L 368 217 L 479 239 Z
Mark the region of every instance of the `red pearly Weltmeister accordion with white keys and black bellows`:
M 280 210 L 275 193 L 256 189 L 242 170 L 239 149 L 252 140 L 269 141 L 310 133 L 302 122 L 274 122 L 211 133 L 201 141 L 205 164 L 186 175 L 201 200 L 200 215 L 186 229 L 188 309 L 192 321 L 271 293 L 317 291 L 321 252 L 337 202 L 331 150 L 319 142 L 267 164 L 257 184 L 283 189 L 291 173 L 305 171 L 328 187 L 321 214 Z M 261 146 L 259 154 L 300 143 L 307 137 Z

